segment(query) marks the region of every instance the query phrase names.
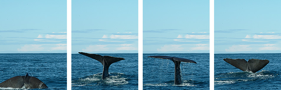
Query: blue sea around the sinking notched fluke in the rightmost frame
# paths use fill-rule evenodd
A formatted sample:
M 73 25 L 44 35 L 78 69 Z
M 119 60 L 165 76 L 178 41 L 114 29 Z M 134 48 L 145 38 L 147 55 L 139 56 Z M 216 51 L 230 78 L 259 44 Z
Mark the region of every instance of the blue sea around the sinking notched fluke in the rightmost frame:
M 269 63 L 256 73 L 242 71 L 223 59 L 267 59 Z M 277 90 L 281 89 L 281 54 L 215 54 L 214 89 Z

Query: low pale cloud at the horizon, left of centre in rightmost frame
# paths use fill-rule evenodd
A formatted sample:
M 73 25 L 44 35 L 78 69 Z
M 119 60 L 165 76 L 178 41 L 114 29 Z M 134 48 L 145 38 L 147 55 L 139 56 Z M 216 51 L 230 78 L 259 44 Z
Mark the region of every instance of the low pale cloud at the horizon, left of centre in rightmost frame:
M 237 52 L 237 51 L 252 51 L 250 45 L 233 45 L 229 49 L 225 49 L 226 52 Z

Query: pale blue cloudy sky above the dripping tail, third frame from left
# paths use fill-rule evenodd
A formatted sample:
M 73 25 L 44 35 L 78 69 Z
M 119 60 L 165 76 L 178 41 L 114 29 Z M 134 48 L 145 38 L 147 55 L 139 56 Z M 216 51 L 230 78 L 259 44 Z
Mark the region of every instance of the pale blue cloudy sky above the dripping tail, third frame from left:
M 209 53 L 209 1 L 144 0 L 143 53 Z

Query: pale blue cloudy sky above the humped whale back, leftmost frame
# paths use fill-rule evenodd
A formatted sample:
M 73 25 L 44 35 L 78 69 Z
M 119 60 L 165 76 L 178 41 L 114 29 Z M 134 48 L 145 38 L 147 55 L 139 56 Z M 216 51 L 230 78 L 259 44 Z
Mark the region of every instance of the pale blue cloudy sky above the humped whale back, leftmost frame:
M 0 0 L 0 53 L 66 53 L 66 0 Z

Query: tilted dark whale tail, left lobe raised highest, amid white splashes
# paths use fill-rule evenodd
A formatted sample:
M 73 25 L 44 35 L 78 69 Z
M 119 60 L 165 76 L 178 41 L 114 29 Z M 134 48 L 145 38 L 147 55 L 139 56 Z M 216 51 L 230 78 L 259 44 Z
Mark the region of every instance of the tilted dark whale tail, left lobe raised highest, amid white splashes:
M 99 62 L 101 62 L 101 64 L 103 65 L 102 79 L 105 79 L 107 76 L 109 76 L 108 68 L 112 63 L 115 63 L 115 62 L 121 61 L 121 60 L 125 60 L 124 58 L 118 58 L 118 57 L 113 57 L 113 56 L 101 56 L 98 54 L 89 54 L 89 53 L 84 53 L 84 52 L 78 52 L 78 53 L 88 56 L 92 59 L 96 59 Z

